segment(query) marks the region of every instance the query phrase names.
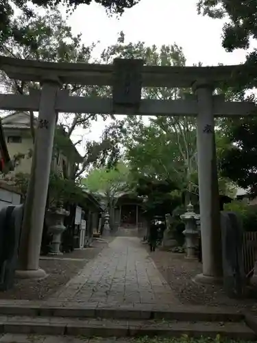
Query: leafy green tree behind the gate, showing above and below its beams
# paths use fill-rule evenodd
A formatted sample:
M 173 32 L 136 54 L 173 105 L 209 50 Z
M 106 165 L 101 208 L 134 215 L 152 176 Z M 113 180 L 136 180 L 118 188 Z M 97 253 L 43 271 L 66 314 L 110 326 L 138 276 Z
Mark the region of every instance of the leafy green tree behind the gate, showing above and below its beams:
M 114 58 L 141 58 L 147 65 L 184 66 L 186 58 L 178 45 L 162 45 L 160 49 L 145 43 L 125 43 L 121 32 L 116 45 L 103 51 L 101 57 L 110 63 Z M 180 99 L 188 90 L 167 87 L 143 88 L 145 99 Z M 185 189 L 193 189 L 196 164 L 196 124 L 191 117 L 164 117 L 156 113 L 145 126 L 143 117 L 127 117 L 125 146 L 133 169 L 146 176 L 177 180 Z

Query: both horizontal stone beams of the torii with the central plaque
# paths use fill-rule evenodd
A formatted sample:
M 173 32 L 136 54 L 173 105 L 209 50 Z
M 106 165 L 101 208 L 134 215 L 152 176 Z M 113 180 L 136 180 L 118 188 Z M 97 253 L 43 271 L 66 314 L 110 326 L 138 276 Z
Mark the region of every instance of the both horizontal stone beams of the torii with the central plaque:
M 115 59 L 114 64 L 57 63 L 19 60 L 0 57 L 0 69 L 9 78 L 23 81 L 58 82 L 63 84 L 88 84 L 112 86 L 112 98 L 69 96 L 69 91 L 58 91 L 55 109 L 68 113 L 116 113 L 138 115 L 197 115 L 197 98 L 158 100 L 141 99 L 142 86 L 168 86 L 209 88 L 245 67 L 159 67 L 143 66 L 143 60 Z M 60 86 L 60 85 L 59 85 Z M 0 94 L 3 110 L 38 110 L 40 91 L 29 95 Z M 250 102 L 225 102 L 222 95 L 213 97 L 213 115 L 249 115 L 256 111 Z

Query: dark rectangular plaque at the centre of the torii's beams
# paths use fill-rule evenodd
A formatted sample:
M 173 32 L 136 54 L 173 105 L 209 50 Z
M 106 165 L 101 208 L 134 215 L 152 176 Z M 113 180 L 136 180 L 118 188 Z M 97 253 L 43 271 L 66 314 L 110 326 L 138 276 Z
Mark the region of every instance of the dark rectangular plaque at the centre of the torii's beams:
M 138 108 L 141 99 L 143 60 L 114 60 L 112 99 L 119 107 Z

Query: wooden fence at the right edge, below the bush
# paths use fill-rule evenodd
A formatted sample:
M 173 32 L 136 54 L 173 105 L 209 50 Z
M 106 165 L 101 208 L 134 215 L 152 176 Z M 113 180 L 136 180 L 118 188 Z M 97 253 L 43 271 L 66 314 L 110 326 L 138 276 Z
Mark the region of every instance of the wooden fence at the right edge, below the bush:
M 257 232 L 249 231 L 243 234 L 243 263 L 245 275 L 251 277 L 254 273 L 254 263 L 257 258 Z

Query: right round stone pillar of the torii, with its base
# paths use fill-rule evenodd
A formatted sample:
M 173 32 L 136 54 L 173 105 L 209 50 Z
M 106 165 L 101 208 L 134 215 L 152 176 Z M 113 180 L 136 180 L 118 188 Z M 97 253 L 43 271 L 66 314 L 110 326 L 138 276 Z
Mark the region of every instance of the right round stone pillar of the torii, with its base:
M 197 158 L 203 262 L 203 273 L 197 275 L 195 281 L 219 283 L 223 273 L 213 88 L 204 80 L 195 82 L 194 88 L 198 104 Z

